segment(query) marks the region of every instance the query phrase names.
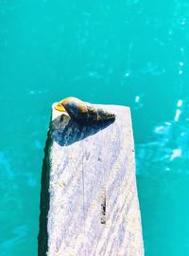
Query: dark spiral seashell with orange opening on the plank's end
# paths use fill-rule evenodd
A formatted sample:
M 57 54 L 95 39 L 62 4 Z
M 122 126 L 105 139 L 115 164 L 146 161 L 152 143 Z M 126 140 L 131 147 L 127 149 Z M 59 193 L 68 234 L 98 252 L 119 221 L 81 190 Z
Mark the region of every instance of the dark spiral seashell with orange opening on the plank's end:
M 67 112 L 71 119 L 80 123 L 93 123 L 98 120 L 115 119 L 113 113 L 108 112 L 98 105 L 80 101 L 74 97 L 68 97 L 60 101 L 55 109 Z

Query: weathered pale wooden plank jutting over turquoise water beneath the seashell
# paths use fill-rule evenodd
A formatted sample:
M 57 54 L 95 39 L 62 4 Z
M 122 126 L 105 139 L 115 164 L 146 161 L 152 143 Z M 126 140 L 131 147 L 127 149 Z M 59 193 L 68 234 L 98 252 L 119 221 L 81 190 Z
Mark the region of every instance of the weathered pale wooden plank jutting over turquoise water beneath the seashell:
M 39 255 L 142 256 L 129 107 L 79 126 L 53 108 L 43 160 Z

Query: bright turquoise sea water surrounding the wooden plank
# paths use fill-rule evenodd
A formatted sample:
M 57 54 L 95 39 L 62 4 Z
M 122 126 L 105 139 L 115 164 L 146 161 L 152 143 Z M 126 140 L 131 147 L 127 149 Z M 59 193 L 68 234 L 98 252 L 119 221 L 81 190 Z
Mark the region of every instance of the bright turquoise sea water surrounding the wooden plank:
M 189 255 L 189 2 L 0 0 L 0 256 L 37 255 L 43 146 L 67 96 L 131 107 L 146 256 Z

